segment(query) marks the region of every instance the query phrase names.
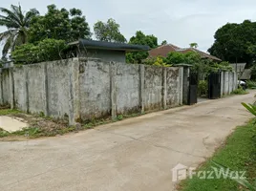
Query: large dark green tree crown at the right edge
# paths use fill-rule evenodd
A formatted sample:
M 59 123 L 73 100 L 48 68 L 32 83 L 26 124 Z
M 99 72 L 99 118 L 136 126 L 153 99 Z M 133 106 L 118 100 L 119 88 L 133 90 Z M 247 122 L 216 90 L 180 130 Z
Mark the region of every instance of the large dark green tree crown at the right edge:
M 256 22 L 227 23 L 215 33 L 214 38 L 209 53 L 232 63 L 249 63 L 255 59 Z

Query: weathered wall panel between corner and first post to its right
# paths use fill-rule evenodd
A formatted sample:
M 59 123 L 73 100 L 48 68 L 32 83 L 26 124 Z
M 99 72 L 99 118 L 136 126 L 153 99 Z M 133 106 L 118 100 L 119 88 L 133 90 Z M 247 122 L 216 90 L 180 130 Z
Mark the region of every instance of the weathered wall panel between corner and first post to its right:
M 110 66 L 100 61 L 80 62 L 80 115 L 83 120 L 110 116 Z

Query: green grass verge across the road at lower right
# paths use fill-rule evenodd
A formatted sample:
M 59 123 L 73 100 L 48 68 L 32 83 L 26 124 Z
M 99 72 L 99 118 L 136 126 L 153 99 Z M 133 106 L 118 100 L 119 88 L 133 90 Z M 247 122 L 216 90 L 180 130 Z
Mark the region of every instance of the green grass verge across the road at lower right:
M 235 171 L 246 171 L 246 178 L 251 183 L 256 180 L 256 120 L 248 122 L 245 126 L 238 127 L 235 132 L 226 139 L 212 157 L 206 160 L 199 171 L 212 171 L 214 160 Z M 216 167 L 216 166 L 215 166 Z M 246 190 L 234 180 L 213 179 L 202 180 L 194 176 L 193 179 L 181 181 L 181 191 L 241 191 Z

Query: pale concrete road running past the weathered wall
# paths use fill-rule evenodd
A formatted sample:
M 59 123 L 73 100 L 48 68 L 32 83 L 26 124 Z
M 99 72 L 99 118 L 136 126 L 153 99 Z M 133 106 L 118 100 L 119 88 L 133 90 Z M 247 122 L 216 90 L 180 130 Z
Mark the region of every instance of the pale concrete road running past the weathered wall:
M 252 117 L 255 92 L 129 118 L 77 134 L 0 142 L 0 190 L 170 191 L 171 169 L 197 166 Z

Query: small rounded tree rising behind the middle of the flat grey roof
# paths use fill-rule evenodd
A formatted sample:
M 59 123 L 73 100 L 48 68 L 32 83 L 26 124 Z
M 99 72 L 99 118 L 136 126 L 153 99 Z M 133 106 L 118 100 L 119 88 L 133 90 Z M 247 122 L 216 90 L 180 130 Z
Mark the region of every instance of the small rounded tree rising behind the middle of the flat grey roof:
M 100 41 L 124 43 L 126 39 L 119 31 L 119 28 L 119 24 L 112 18 L 108 19 L 107 23 L 98 21 L 94 26 L 96 39 Z

